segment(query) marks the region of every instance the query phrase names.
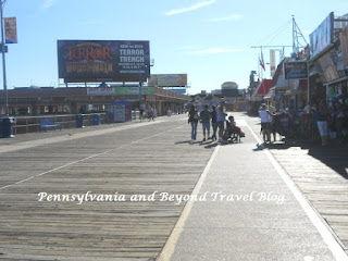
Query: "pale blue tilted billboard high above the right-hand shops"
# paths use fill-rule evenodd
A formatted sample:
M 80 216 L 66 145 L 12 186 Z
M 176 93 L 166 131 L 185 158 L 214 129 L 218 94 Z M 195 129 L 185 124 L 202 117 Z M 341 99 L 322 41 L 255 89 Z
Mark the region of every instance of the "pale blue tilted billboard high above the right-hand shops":
M 309 35 L 312 57 L 319 54 L 334 39 L 334 13 L 331 12 L 328 16 L 320 24 L 320 26 Z

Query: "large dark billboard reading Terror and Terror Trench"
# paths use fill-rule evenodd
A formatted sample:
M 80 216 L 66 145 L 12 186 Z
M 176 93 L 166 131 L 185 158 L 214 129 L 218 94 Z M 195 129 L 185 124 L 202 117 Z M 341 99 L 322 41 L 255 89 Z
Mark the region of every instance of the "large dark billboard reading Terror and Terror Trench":
M 146 82 L 149 41 L 58 40 L 59 77 L 65 83 Z

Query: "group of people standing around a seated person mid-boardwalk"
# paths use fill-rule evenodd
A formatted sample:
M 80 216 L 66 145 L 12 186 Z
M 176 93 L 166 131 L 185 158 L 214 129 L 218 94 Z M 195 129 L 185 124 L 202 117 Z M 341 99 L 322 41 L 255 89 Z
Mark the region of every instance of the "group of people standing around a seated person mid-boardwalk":
M 236 126 L 234 117 L 232 115 L 228 116 L 228 121 L 226 122 L 226 102 L 224 100 L 220 102 L 220 105 L 217 108 L 215 105 L 212 105 L 211 110 L 209 110 L 209 105 L 206 104 L 203 107 L 203 110 L 200 112 L 198 112 L 196 104 L 191 104 L 188 111 L 188 123 L 191 124 L 190 144 L 194 144 L 197 138 L 197 126 L 199 122 L 202 124 L 202 141 L 206 141 L 207 139 L 217 140 L 219 137 L 217 141 L 224 142 L 224 130 L 228 127 L 239 129 L 240 132 L 240 128 Z M 213 130 L 212 136 L 210 136 L 210 126 L 212 126 Z

